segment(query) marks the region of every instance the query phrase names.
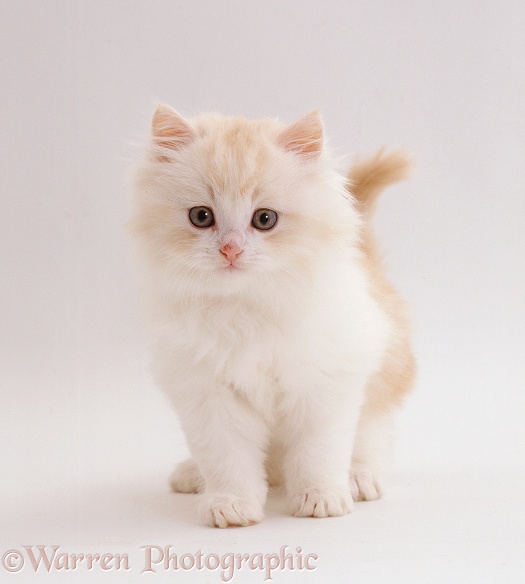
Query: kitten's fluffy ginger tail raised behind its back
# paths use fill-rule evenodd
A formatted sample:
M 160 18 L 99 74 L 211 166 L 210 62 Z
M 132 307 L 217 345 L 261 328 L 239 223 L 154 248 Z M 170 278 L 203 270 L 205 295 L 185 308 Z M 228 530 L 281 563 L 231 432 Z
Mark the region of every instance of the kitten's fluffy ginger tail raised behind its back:
M 348 173 L 348 190 L 354 195 L 361 213 L 370 215 L 385 187 L 407 178 L 412 160 L 402 150 L 357 160 Z

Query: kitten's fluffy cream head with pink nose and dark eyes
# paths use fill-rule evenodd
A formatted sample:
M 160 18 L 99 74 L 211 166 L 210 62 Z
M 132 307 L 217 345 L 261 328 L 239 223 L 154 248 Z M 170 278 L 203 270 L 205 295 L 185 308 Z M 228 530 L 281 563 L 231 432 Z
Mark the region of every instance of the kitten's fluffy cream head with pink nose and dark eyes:
M 132 228 L 174 285 L 231 292 L 297 277 L 356 236 L 357 214 L 324 153 L 317 112 L 287 126 L 185 120 L 159 106 L 152 138 Z

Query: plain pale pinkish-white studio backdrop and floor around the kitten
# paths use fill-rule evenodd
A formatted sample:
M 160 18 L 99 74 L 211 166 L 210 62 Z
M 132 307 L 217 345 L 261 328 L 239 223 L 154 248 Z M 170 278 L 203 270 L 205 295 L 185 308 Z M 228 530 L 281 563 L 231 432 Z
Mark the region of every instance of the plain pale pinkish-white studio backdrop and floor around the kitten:
M 275 582 L 521 582 L 525 4 L 35 0 L 0 18 L 0 553 L 129 553 L 128 573 L 66 577 L 147 582 L 141 545 L 299 545 L 316 571 Z M 148 373 L 124 230 L 155 101 L 288 121 L 320 107 L 338 154 L 416 155 L 376 220 L 419 362 L 382 501 L 315 521 L 275 497 L 265 523 L 224 532 L 168 493 L 184 438 Z M 174 578 L 220 581 L 157 580 Z

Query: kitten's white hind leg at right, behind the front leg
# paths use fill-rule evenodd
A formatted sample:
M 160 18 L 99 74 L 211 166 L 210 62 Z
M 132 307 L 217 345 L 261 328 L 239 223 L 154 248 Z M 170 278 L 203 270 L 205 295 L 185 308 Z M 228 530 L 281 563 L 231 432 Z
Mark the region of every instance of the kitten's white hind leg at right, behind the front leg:
M 350 470 L 354 501 L 373 501 L 382 494 L 381 473 L 391 452 L 392 414 L 363 411 L 359 419 Z

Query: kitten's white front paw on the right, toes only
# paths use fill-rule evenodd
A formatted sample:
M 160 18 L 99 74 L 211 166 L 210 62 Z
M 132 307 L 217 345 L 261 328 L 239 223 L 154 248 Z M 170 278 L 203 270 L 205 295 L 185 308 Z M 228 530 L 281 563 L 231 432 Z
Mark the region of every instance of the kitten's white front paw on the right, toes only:
M 348 489 L 340 487 L 309 487 L 294 493 L 292 514 L 296 517 L 339 517 L 352 511 Z

